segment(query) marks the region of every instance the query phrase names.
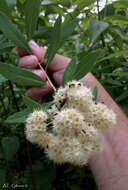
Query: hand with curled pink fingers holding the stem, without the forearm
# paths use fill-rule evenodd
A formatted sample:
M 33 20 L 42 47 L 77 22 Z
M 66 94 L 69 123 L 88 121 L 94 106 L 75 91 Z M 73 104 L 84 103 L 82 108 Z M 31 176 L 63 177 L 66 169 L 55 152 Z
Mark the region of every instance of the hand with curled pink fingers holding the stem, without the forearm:
M 21 56 L 19 60 L 19 67 L 20 68 L 28 68 L 33 69 L 33 72 L 40 76 L 43 80 L 47 81 L 46 74 L 42 70 L 38 69 L 38 63 L 40 62 L 43 66 L 46 64 L 46 60 L 44 59 L 45 55 L 45 48 L 39 47 L 37 43 L 34 41 L 29 42 L 29 47 L 32 52 L 32 55 L 27 55 L 26 52 L 17 48 L 19 55 Z M 55 83 L 56 86 L 61 84 L 62 76 L 64 70 L 70 59 L 61 55 L 56 55 L 53 59 L 52 63 L 48 66 L 48 74 L 50 75 L 52 81 Z M 38 103 L 42 104 L 46 101 L 45 95 L 52 90 L 52 87 L 47 82 L 47 85 L 42 87 L 31 87 L 27 90 L 26 95 L 33 100 L 37 101 Z

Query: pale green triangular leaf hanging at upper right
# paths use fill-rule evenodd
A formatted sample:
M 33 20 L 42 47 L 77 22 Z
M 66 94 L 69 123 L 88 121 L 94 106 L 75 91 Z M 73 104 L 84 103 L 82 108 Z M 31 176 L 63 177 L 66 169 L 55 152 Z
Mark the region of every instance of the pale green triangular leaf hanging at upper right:
M 89 33 L 90 33 L 90 42 L 94 43 L 97 38 L 109 27 L 109 24 L 106 22 L 101 22 L 96 19 L 91 19 Z

